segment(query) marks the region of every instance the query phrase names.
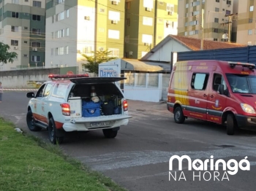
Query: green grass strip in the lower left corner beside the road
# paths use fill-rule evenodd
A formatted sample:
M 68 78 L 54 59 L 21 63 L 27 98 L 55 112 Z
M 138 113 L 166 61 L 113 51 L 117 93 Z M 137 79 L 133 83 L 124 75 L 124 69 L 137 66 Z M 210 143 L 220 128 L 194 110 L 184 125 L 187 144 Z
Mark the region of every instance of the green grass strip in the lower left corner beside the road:
M 110 178 L 0 118 L 0 190 L 115 190 Z

